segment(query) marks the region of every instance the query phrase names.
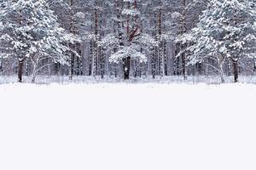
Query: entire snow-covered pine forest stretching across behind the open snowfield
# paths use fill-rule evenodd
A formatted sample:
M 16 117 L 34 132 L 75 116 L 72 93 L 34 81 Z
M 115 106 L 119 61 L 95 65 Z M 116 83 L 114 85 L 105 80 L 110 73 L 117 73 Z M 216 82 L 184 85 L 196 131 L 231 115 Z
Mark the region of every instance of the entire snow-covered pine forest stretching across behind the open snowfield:
M 0 77 L 19 82 L 238 82 L 255 75 L 255 40 L 255 0 L 0 0 Z

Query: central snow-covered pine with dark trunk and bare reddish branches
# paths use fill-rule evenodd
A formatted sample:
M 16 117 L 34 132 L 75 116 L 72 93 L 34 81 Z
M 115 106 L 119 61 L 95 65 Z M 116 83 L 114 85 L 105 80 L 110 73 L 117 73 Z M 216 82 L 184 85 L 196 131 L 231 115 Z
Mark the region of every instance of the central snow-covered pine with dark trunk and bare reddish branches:
M 142 2 L 139 0 L 116 1 L 116 16 L 113 17 L 117 24 L 115 34 L 111 33 L 102 38 L 102 46 L 112 44 L 113 54 L 110 62 L 123 64 L 124 78 L 129 79 L 131 61 L 147 61 L 146 53 L 150 48 L 158 45 L 147 32 L 143 32 L 143 16 L 141 14 Z M 106 41 L 107 39 L 111 42 Z M 111 39 L 110 39 L 111 38 Z

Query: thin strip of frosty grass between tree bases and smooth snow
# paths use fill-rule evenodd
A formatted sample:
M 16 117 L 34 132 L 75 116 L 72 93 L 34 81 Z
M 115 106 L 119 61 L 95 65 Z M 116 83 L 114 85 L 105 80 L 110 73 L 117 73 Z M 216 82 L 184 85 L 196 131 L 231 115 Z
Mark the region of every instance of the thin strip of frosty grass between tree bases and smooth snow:
M 231 83 L 234 81 L 234 77 L 224 77 L 226 83 Z M 32 77 L 23 77 L 23 82 L 30 83 Z M 4 83 L 13 83 L 17 82 L 17 76 L 1 76 L 0 75 L 0 84 Z M 113 78 L 108 77 L 102 79 L 101 77 L 73 77 L 73 80 L 69 80 L 67 76 L 38 76 L 36 79 L 36 83 L 39 84 L 49 84 L 49 83 L 186 83 L 186 84 L 197 84 L 197 83 L 207 83 L 207 84 L 218 84 L 220 83 L 220 77 L 218 76 L 198 76 L 198 77 L 188 77 L 187 81 L 183 80 L 183 77 L 156 77 L 153 79 L 152 77 L 147 78 L 131 78 L 129 81 L 124 81 L 122 78 Z M 240 76 L 239 82 L 253 83 L 256 84 L 256 76 Z

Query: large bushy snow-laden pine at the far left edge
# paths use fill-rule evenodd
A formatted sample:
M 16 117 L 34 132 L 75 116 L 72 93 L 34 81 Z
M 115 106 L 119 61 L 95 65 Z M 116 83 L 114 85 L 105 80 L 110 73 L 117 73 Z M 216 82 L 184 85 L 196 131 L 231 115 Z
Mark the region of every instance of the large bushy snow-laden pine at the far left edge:
M 3 55 L 18 59 L 18 78 L 22 81 L 23 63 L 30 59 L 33 65 L 32 82 L 36 73 L 45 67 L 40 62 L 49 60 L 67 64 L 69 48 L 64 42 L 73 41 L 57 23 L 45 0 L 17 0 L 4 4 L 0 11 L 0 41 Z M 45 63 L 45 62 L 44 62 Z

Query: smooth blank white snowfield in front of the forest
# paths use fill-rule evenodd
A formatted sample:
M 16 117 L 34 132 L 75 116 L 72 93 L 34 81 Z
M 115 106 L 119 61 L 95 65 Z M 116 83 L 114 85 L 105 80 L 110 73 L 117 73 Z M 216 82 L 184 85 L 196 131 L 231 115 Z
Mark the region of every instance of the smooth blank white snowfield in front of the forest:
M 256 85 L 0 85 L 1 170 L 255 170 Z

